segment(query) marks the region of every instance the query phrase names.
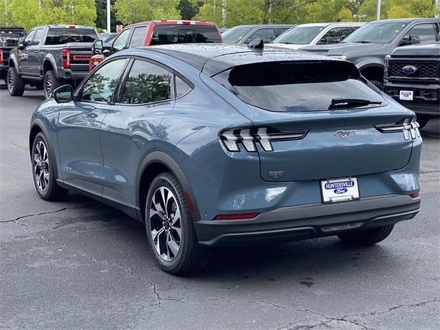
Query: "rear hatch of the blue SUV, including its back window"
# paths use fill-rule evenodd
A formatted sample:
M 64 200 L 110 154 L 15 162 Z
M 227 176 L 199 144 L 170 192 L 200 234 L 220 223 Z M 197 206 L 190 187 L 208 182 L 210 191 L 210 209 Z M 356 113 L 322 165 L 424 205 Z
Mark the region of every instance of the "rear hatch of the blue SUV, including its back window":
M 378 128 L 395 127 L 412 113 L 368 87 L 352 63 L 256 63 L 225 76 L 227 87 L 250 104 L 249 135 L 266 181 L 367 175 L 408 164 L 411 138 Z

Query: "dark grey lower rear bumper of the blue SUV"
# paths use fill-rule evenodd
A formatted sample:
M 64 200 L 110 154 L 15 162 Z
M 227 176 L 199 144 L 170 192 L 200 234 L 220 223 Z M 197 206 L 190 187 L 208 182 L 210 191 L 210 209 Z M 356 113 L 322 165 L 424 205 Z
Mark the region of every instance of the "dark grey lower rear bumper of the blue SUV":
M 363 230 L 412 219 L 420 197 L 367 197 L 359 201 L 291 206 L 263 212 L 251 220 L 202 220 L 195 223 L 201 245 L 235 245 L 251 241 L 294 241 Z

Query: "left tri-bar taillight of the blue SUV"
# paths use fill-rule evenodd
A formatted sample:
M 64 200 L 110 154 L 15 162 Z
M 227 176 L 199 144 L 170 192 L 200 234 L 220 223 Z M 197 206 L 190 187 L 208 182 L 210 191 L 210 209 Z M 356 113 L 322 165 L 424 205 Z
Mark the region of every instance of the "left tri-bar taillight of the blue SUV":
M 259 129 L 234 129 L 223 131 L 220 139 L 228 151 L 239 152 L 239 144 L 242 144 L 245 151 L 256 152 L 256 144 L 260 144 L 264 151 L 274 151 L 272 141 L 300 140 L 307 135 L 304 131 L 281 132 L 272 130 L 268 132 L 266 127 Z

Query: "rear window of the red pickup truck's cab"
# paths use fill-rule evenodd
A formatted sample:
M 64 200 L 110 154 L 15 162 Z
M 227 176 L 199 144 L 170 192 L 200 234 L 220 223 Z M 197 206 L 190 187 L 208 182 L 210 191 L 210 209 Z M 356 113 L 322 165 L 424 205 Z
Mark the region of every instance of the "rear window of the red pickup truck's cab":
M 221 39 L 212 25 L 156 25 L 151 45 L 173 43 L 221 43 Z

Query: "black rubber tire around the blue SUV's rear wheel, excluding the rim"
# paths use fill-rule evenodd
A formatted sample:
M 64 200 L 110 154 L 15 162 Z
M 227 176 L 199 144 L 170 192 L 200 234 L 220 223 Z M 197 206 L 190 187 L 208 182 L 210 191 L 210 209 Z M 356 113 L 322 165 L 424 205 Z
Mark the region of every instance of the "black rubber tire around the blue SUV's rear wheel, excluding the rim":
M 153 220 L 150 219 L 150 206 L 153 195 L 155 195 L 155 192 L 159 191 L 159 188 L 162 187 L 168 189 L 170 192 L 173 193 L 173 197 L 176 197 L 175 201 L 177 201 L 178 210 L 180 210 L 179 224 L 181 228 L 181 235 L 179 236 L 179 250 L 174 256 L 174 259 L 170 261 L 164 260 L 159 252 L 157 252 L 155 243 L 153 241 L 152 227 L 154 225 L 155 228 L 159 228 L 161 226 L 160 223 L 164 223 L 164 221 L 162 221 L 163 218 L 158 217 L 158 214 L 153 214 Z M 157 204 L 156 199 L 155 203 Z M 164 204 L 162 203 L 162 205 Z M 165 208 L 167 208 L 166 205 L 164 206 L 164 209 Z M 166 214 L 168 214 L 168 212 Z M 168 219 L 168 221 L 170 221 L 170 219 Z M 155 224 L 157 222 L 159 222 L 159 227 L 157 227 Z M 164 270 L 165 272 L 168 272 L 170 274 L 184 274 L 188 272 L 195 272 L 203 268 L 206 263 L 208 263 L 210 252 L 207 248 L 199 245 L 199 243 L 197 242 L 197 236 L 195 234 L 195 228 L 192 223 L 190 210 L 184 195 L 184 190 L 181 188 L 179 180 L 177 180 L 177 178 L 169 172 L 164 172 L 157 175 L 157 177 L 153 179 L 153 182 L 148 189 L 145 206 L 145 227 L 146 236 L 148 237 L 148 244 L 150 245 L 155 260 L 157 261 L 157 265 L 159 265 L 159 267 L 162 268 L 162 270 Z M 155 230 L 155 228 L 153 228 L 153 230 Z M 172 229 L 169 230 L 170 232 L 172 231 Z M 166 232 L 163 231 L 162 234 L 168 235 Z M 159 235 L 157 235 L 156 237 L 158 240 Z M 168 242 L 168 236 L 166 236 L 165 239 Z M 166 244 L 166 249 L 168 250 L 168 243 Z

